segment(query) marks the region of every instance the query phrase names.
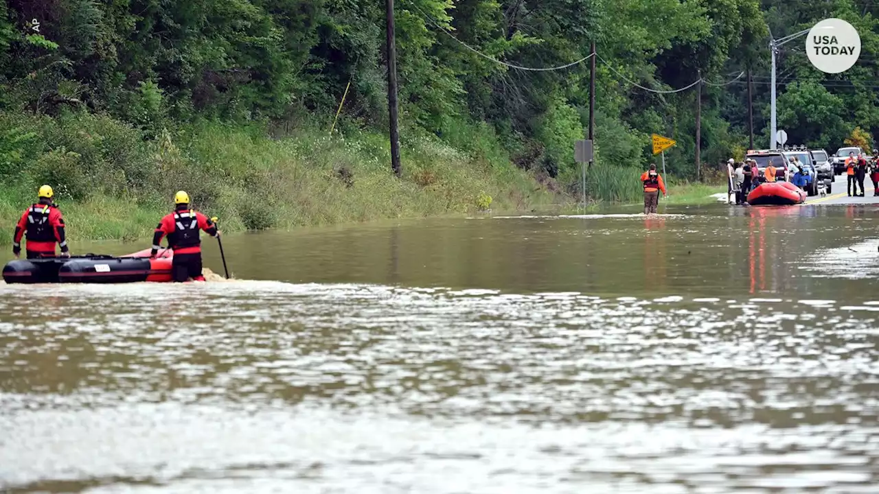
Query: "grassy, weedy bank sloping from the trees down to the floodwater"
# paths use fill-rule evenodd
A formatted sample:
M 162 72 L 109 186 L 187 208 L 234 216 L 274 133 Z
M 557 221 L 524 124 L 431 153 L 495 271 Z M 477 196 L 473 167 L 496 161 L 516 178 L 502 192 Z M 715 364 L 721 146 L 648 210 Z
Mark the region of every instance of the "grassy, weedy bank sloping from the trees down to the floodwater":
M 53 185 L 69 236 L 149 236 L 178 189 L 222 229 L 292 228 L 381 218 L 514 211 L 558 198 L 517 169 L 485 127 L 464 129 L 453 148 L 408 129 L 403 178 L 389 170 L 378 133 L 330 137 L 303 126 L 282 136 L 267 127 L 200 123 L 149 139 L 103 115 L 58 118 L 0 113 L 0 243 L 36 187 Z M 3 134 L 5 133 L 5 134 Z M 463 149 L 462 149 L 463 148 Z M 469 148 L 469 149 L 468 149 Z

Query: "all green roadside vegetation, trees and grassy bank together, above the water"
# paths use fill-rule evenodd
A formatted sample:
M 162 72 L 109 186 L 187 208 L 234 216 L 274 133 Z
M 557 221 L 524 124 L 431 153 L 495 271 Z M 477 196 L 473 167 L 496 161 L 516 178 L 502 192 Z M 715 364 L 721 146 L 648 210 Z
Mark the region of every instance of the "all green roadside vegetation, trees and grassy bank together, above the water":
M 92 238 L 148 233 L 179 188 L 227 230 L 570 206 L 583 193 L 573 142 L 589 122 L 588 63 L 570 62 L 592 41 L 589 200 L 640 200 L 653 133 L 678 142 L 669 176 L 714 183 L 746 149 L 749 69 L 754 137 L 766 142 L 770 28 L 826 17 L 852 22 L 861 58 L 877 57 L 879 4 L 859 0 L 402 0 L 396 178 L 381 2 L 7 0 L 0 242 L 42 183 L 71 235 Z M 860 126 L 872 144 L 879 66 L 828 82 L 799 51 L 779 63 L 790 142 L 836 149 Z

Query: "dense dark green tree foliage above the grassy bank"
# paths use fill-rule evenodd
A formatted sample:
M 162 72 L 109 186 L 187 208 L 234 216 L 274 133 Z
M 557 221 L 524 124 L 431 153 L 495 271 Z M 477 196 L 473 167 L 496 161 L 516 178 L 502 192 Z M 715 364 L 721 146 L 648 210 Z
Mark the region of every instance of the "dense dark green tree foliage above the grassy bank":
M 748 143 L 746 78 L 736 77 L 750 69 L 765 146 L 770 33 L 839 17 L 861 33 L 854 69 L 813 69 L 804 38 L 778 60 L 779 126 L 791 142 L 836 149 L 854 127 L 879 131 L 877 15 L 864 0 L 397 0 L 404 131 L 462 149 L 488 135 L 519 166 L 574 184 L 588 62 L 534 71 L 491 59 L 548 68 L 595 41 L 599 166 L 643 165 L 657 133 L 679 142 L 671 170 L 692 177 L 697 88 L 671 91 L 701 74 L 702 157 L 719 163 Z M 0 109 L 106 113 L 152 137 L 200 119 L 324 125 L 350 82 L 343 128 L 383 128 L 384 22 L 375 0 L 5 0 Z M 20 138 L 0 129 L 0 153 Z

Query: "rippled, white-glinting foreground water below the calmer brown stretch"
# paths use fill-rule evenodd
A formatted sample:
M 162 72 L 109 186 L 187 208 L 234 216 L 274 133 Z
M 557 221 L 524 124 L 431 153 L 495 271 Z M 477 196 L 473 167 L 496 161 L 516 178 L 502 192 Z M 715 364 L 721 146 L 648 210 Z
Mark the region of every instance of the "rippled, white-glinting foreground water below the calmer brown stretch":
M 0 287 L 0 487 L 868 491 L 874 309 L 275 282 Z

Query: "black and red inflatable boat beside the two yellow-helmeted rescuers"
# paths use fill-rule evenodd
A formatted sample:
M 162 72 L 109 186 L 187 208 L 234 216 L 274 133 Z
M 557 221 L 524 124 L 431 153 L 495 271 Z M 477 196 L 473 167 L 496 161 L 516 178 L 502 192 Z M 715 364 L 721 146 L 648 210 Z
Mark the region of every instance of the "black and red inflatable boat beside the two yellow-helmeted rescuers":
M 86 254 L 70 258 L 15 259 L 3 268 L 7 283 L 133 283 L 171 281 L 172 251 L 149 258 L 149 249 L 114 258 Z

